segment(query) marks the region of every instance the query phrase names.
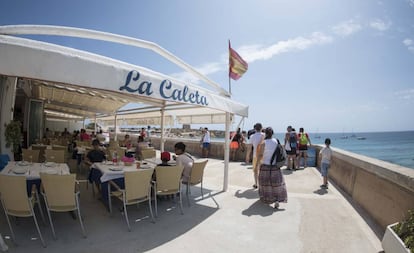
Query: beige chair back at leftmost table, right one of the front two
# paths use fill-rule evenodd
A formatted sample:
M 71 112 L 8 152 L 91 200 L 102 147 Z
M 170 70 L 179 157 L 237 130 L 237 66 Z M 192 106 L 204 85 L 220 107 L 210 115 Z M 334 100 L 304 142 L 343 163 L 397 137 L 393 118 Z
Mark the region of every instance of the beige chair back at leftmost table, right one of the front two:
M 76 209 L 75 180 L 76 174 L 57 175 L 40 173 L 43 191 L 47 204 L 52 211 L 68 211 Z

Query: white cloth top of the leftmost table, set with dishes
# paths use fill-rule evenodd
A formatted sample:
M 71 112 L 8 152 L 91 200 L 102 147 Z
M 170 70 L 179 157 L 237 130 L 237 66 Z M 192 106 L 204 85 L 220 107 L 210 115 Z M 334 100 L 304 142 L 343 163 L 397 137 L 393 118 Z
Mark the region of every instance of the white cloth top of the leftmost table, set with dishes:
M 29 163 L 9 162 L 0 172 L 5 175 L 26 176 L 27 179 L 40 179 L 40 172 L 68 175 L 69 166 L 66 163 Z

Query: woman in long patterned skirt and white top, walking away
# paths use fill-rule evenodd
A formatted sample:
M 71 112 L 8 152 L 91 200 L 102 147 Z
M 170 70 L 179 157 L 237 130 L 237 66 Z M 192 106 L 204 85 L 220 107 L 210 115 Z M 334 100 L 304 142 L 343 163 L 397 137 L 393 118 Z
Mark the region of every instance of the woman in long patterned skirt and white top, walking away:
M 266 204 L 275 203 L 276 209 L 280 202 L 287 203 L 286 184 L 280 168 L 276 165 L 276 156 L 272 161 L 277 145 L 278 141 L 273 138 L 273 129 L 266 128 L 265 139 L 257 149 L 257 159 L 262 161 L 259 170 L 259 196 Z

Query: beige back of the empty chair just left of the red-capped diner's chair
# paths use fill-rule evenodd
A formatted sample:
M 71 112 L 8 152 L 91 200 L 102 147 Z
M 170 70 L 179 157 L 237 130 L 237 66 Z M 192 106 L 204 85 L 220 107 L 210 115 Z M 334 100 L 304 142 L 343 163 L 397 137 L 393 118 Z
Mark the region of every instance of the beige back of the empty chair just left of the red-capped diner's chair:
M 125 171 L 125 195 L 127 202 L 149 197 L 153 173 L 154 169 Z

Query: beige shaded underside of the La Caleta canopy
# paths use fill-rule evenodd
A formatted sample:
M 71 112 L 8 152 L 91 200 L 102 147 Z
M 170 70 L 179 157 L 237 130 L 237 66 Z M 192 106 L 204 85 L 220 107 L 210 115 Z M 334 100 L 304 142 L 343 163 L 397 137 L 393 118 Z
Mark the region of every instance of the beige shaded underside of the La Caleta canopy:
M 84 120 L 97 118 L 98 122 L 113 125 L 115 113 L 118 124 L 160 125 L 160 107 L 165 105 L 164 122 L 179 124 L 219 124 L 225 113 L 206 107 L 194 107 L 170 101 L 137 98 L 135 95 L 115 93 L 77 85 L 19 78 L 18 90 L 28 98 L 44 101 L 48 119 Z M 128 104 L 135 107 L 120 110 Z

